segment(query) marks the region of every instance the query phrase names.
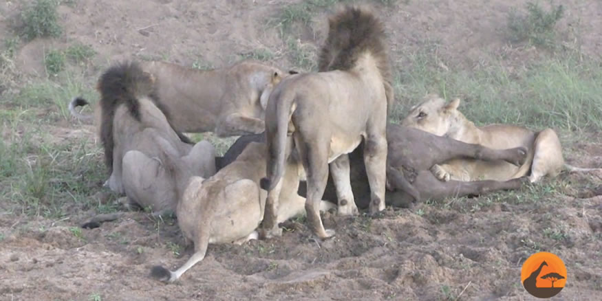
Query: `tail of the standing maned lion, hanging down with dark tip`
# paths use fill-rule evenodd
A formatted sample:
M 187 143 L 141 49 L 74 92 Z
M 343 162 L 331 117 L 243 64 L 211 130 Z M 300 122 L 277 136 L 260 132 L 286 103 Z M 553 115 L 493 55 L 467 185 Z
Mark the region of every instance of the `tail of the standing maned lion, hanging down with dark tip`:
M 266 161 L 267 177 L 259 181 L 259 186 L 264 190 L 272 190 L 280 181 L 286 161 L 286 139 L 288 134 L 288 125 L 294 110 L 297 109 L 295 95 L 289 93 L 278 93 L 275 95 L 275 115 L 276 124 L 266 122 L 266 137 L 268 144 L 268 159 Z M 270 110 L 266 111 L 266 115 Z M 266 118 L 266 120 L 268 120 Z M 291 130 L 292 131 L 292 130 Z

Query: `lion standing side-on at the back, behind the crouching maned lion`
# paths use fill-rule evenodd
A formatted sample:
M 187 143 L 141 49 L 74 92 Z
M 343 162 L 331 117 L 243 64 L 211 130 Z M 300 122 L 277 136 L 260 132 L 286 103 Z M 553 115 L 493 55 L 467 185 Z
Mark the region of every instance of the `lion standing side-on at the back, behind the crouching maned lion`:
M 139 63 L 155 79 L 159 103 L 169 123 L 180 133 L 213 132 L 219 137 L 261 133 L 264 112 L 275 85 L 288 74 L 255 60 L 241 60 L 229 67 L 198 70 L 163 61 Z M 80 120 L 92 119 L 75 111 L 87 102 L 74 98 L 69 111 Z

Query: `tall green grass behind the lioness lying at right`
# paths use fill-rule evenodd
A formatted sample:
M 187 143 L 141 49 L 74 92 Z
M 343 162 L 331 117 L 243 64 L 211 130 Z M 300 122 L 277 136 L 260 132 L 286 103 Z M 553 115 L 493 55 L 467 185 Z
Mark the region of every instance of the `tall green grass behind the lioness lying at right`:
M 471 71 L 447 71 L 429 55 L 411 56 L 396 78 L 398 100 L 391 120 L 405 117 L 424 94 L 462 100 L 460 111 L 477 126 L 512 123 L 537 129 L 602 129 L 602 65 L 574 56 L 546 58 L 512 70 L 501 63 Z

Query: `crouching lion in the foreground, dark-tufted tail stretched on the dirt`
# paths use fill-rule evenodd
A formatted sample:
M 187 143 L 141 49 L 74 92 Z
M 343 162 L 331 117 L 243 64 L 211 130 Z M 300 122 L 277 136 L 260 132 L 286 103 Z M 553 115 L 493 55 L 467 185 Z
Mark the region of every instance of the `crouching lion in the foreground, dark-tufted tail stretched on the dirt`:
M 209 243 L 244 243 L 258 237 L 255 229 L 263 219 L 267 197 L 259 181 L 266 175 L 268 151 L 264 143 L 250 142 L 245 146 L 234 161 L 208 179 L 193 175 L 182 159 L 172 159 L 177 158 L 173 155 L 164 159 L 166 166 L 170 166 L 168 172 L 178 183 L 178 225 L 184 236 L 193 241 L 195 253 L 176 271 L 153 267 L 153 278 L 164 282 L 177 280 L 203 260 Z M 282 206 L 277 212 L 278 223 L 305 211 L 305 198 L 297 194 L 301 164 L 289 160 L 285 170 L 286 185 L 279 195 Z M 327 202 L 320 204 L 321 210 L 332 207 Z

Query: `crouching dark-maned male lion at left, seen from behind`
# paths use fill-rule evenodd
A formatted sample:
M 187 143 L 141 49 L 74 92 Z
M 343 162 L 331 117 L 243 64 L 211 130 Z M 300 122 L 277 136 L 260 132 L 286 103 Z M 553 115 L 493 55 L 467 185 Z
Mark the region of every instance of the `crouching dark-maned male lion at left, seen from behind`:
M 158 156 L 169 152 L 195 175 L 215 174 L 215 149 L 182 142 L 160 103 L 154 78 L 136 62 L 116 64 L 100 76 L 100 139 L 110 176 L 107 186 L 153 212 L 175 210 L 175 184 Z

